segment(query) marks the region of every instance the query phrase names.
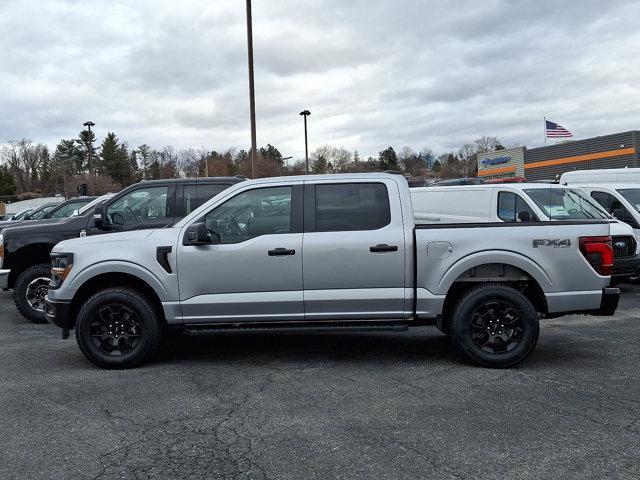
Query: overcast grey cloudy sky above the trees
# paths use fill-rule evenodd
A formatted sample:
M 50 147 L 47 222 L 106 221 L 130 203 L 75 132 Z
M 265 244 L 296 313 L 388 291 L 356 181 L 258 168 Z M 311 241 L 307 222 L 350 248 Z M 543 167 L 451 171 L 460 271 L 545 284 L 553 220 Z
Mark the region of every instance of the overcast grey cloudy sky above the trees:
M 640 2 L 254 0 L 258 145 L 362 156 L 640 128 Z M 242 0 L 0 3 L 0 141 L 86 120 L 131 146 L 250 145 Z

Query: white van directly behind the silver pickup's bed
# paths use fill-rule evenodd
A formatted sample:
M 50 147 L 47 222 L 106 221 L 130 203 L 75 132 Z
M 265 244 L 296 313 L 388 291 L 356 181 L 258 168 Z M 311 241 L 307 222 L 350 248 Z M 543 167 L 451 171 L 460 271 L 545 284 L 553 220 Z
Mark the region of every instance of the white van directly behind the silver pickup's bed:
M 635 280 L 636 270 L 640 273 L 640 242 L 633 229 L 578 188 L 541 183 L 420 187 L 411 189 L 411 200 L 418 224 L 609 220 L 613 281 Z

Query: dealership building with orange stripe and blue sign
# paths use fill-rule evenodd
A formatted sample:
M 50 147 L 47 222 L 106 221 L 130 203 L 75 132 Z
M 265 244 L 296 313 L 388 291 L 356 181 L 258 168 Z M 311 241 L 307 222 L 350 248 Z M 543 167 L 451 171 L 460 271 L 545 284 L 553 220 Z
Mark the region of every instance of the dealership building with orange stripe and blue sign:
M 497 150 L 478 155 L 478 176 L 555 180 L 572 170 L 639 167 L 639 147 L 640 131 L 632 130 L 545 147 Z

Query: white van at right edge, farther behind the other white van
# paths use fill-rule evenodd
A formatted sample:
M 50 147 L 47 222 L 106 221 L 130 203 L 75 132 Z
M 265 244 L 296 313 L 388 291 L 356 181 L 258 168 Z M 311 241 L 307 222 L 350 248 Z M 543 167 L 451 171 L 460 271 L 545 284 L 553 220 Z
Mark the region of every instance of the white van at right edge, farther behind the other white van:
M 560 184 L 583 190 L 607 212 L 615 212 L 640 243 L 640 168 L 576 170 L 563 173 Z

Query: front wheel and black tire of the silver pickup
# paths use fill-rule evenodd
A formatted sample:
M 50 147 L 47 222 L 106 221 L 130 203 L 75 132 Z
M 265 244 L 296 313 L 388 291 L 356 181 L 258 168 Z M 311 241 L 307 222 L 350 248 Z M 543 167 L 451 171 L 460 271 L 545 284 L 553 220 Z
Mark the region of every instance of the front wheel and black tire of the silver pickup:
M 138 290 L 101 290 L 80 307 L 76 341 L 85 357 L 101 368 L 142 364 L 162 342 L 164 327 L 149 299 Z M 119 334 L 119 335 L 118 335 Z

